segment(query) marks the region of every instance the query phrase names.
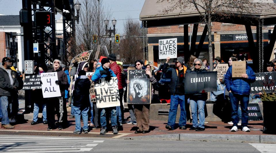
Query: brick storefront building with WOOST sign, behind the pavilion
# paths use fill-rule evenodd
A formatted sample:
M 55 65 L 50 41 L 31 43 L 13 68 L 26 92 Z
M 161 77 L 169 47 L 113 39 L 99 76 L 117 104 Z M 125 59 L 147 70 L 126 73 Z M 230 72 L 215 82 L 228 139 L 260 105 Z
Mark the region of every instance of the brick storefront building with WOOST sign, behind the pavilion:
M 163 26 L 148 28 L 148 54 L 149 61 L 154 65 L 164 63 L 165 59 L 158 59 L 158 40 L 177 38 L 177 52 L 178 56 L 184 56 L 184 26 Z M 199 44 L 200 37 L 204 30 L 205 24 L 198 25 L 198 33 L 196 38 L 196 48 Z M 251 26 L 254 42 L 256 43 L 256 26 Z M 262 32 L 264 34 L 264 47 L 269 43 L 269 38 L 273 32 L 274 26 L 264 26 Z M 189 42 L 193 32 L 193 24 L 188 25 Z M 251 60 L 251 55 L 248 46 L 246 35 L 246 28 L 244 25 L 228 24 L 220 22 L 212 22 L 212 44 L 213 44 L 213 57 L 221 57 L 224 61 L 228 61 L 229 57 L 233 54 L 247 54 L 248 60 Z M 190 45 L 190 43 L 189 43 Z M 276 47 L 274 46 L 273 50 Z M 194 52 L 194 51 L 192 51 Z M 271 59 L 275 58 L 276 51 L 272 53 Z M 202 50 L 199 55 L 200 59 L 208 59 L 208 34 L 205 37 Z

